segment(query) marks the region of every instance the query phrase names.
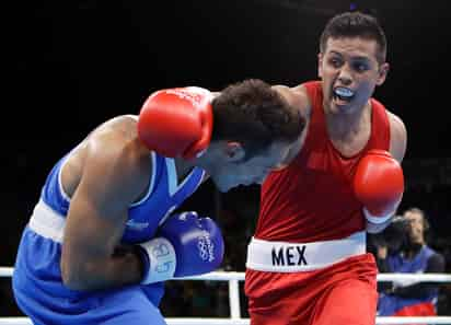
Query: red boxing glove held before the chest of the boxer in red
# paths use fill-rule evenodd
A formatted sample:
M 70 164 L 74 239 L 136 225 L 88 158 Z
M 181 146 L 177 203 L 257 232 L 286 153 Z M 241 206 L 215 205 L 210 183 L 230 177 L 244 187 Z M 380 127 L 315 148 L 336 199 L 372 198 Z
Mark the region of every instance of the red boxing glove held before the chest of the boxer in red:
M 368 221 L 383 223 L 396 211 L 404 193 L 400 163 L 384 150 L 369 150 L 354 176 L 354 190 Z

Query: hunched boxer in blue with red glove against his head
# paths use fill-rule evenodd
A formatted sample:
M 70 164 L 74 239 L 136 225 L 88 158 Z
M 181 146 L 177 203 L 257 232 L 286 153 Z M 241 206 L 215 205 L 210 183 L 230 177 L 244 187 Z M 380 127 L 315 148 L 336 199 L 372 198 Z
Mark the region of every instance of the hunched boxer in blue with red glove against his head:
M 159 91 L 139 116 L 100 125 L 42 188 L 15 262 L 19 306 L 37 325 L 165 324 L 164 281 L 223 255 L 211 219 L 173 211 L 208 176 L 221 191 L 263 182 L 303 127 L 259 80 Z

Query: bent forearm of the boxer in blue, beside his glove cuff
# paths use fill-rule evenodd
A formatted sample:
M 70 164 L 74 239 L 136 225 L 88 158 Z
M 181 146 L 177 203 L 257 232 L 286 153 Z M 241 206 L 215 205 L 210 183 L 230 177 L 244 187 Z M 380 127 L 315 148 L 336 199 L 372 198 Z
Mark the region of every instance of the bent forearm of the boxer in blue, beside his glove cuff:
M 118 247 L 112 256 L 72 266 L 63 276 L 65 285 L 79 291 L 117 288 L 141 279 L 142 264 L 135 247 Z

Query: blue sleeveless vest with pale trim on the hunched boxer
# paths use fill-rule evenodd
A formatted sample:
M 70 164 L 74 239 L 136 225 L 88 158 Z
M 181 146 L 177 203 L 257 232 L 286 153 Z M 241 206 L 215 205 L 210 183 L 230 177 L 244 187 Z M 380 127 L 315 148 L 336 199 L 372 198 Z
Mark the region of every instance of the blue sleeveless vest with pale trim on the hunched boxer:
M 60 171 L 69 154 L 60 159 L 53 167 L 41 193 L 41 199 L 53 210 L 66 217 L 70 198 L 65 194 Z M 155 235 L 158 227 L 188 198 L 200 185 L 205 171 L 194 167 L 183 179 L 177 182 L 174 159 L 150 154 L 152 173 L 146 196 L 128 208 L 128 220 L 123 234 L 123 242 L 135 244 L 146 242 Z

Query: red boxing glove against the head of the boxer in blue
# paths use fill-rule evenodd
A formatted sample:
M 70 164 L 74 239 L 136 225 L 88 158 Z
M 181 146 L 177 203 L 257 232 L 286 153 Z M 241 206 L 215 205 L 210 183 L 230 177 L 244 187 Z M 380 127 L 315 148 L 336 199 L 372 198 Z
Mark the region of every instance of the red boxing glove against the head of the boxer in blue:
M 154 92 L 139 114 L 139 139 L 167 158 L 200 155 L 211 139 L 211 100 L 212 94 L 198 86 Z

